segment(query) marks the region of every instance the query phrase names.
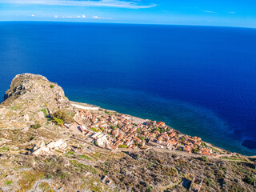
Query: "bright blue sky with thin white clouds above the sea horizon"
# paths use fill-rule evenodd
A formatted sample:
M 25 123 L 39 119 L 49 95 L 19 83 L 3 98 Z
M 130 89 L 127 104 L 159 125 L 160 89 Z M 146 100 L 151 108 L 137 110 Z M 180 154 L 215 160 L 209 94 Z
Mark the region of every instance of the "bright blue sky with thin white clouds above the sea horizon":
M 256 28 L 256 0 L 0 0 L 0 21 Z

